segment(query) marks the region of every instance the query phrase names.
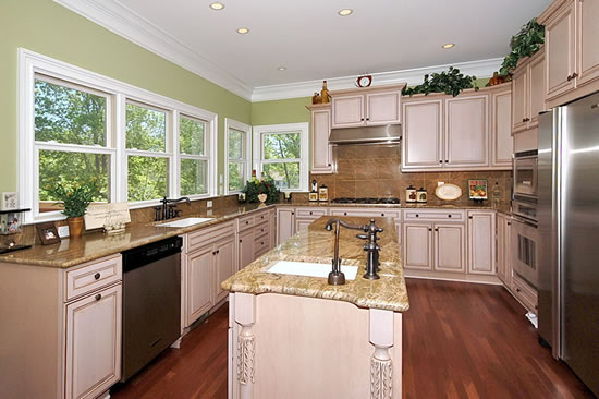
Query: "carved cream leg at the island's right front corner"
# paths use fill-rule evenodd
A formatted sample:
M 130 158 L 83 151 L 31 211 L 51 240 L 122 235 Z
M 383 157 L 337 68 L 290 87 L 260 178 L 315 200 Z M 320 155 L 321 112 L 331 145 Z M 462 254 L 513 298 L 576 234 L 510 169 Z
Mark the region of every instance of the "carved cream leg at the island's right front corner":
M 393 347 L 393 312 L 371 309 L 369 318 L 370 343 L 375 347 L 370 358 L 370 399 L 391 399 L 393 362 L 389 348 Z

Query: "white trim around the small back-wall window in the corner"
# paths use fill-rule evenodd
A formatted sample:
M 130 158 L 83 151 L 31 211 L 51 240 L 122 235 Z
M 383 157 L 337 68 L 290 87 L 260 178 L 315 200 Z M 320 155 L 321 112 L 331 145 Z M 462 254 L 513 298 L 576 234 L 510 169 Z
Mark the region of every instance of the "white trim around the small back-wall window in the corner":
M 305 192 L 308 191 L 308 122 L 301 123 L 284 123 L 284 124 L 265 124 L 259 126 L 253 126 L 254 132 L 254 169 L 256 169 L 256 177 L 261 178 L 262 174 L 262 134 L 264 133 L 278 133 L 283 131 L 300 131 L 301 132 L 301 152 L 302 158 L 300 161 L 300 189 L 281 190 L 284 192 Z

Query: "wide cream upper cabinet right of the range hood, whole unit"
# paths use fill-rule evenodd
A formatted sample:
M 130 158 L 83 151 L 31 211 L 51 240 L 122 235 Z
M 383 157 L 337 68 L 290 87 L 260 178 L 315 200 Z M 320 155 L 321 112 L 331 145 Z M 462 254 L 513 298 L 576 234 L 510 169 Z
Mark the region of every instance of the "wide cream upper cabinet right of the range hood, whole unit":
M 509 84 L 402 99 L 402 170 L 511 169 Z

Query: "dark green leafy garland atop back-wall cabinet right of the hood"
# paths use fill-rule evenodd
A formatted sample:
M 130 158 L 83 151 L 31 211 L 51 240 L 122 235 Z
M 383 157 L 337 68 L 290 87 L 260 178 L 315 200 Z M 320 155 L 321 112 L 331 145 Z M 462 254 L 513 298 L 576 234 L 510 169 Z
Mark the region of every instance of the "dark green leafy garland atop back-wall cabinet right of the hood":
M 426 74 L 423 84 L 414 87 L 404 87 L 402 95 L 412 96 L 413 94 L 424 93 L 426 96 L 429 93 L 444 93 L 455 97 L 466 88 L 478 90 L 476 76 L 464 75 L 460 73 L 457 68 L 450 66 L 449 71 L 433 73 L 430 75 L 430 78 Z

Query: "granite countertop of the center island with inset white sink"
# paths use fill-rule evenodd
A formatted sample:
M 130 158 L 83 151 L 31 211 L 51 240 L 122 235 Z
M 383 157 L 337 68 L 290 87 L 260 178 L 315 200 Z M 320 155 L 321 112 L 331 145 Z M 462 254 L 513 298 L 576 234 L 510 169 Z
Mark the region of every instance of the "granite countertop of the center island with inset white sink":
M 405 312 L 409 307 L 407 290 L 400 261 L 398 234 L 392 218 L 376 218 L 384 231 L 379 234 L 381 246 L 379 280 L 362 278 L 365 273 L 364 241 L 357 231 L 341 229 L 340 257 L 342 265 L 358 266 L 355 280 L 344 286 L 329 286 L 326 278 L 303 277 L 267 273 L 265 269 L 277 261 L 315 262 L 330 264 L 333 257 L 333 232 L 325 230 L 329 217 L 323 216 L 283 244 L 254 261 L 222 282 L 224 290 L 254 294 L 273 292 L 288 295 L 331 299 L 353 303 L 359 307 Z M 343 217 L 353 225 L 367 223 L 369 218 Z

